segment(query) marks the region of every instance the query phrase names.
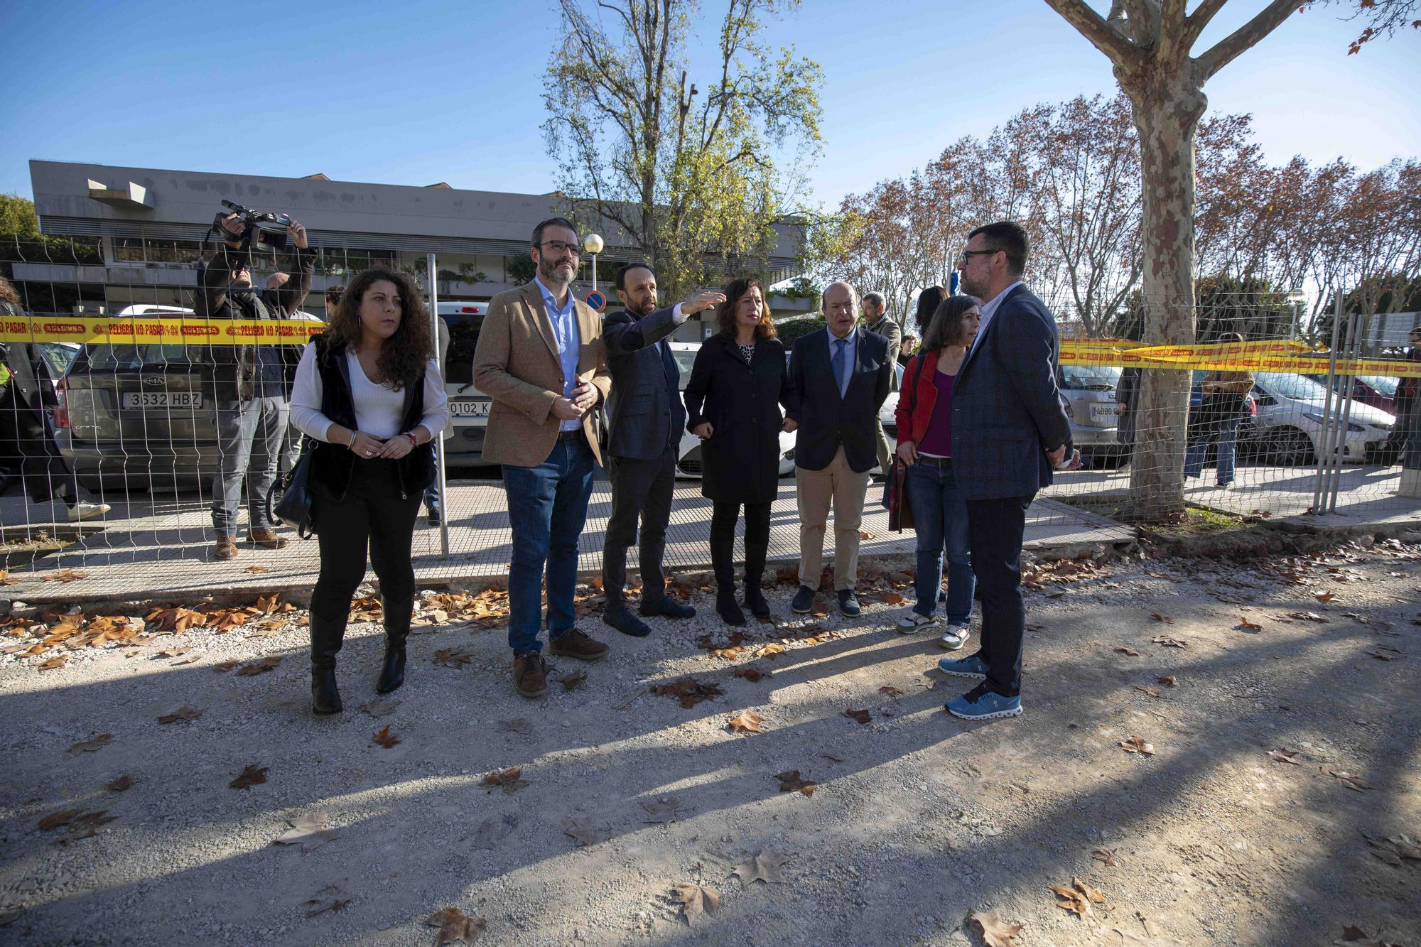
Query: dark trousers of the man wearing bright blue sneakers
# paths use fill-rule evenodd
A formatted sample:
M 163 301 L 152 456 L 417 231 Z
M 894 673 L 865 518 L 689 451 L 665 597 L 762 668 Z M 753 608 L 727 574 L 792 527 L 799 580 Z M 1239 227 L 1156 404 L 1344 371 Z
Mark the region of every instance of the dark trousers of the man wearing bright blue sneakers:
M 968 545 L 982 600 L 982 646 L 986 685 L 1005 697 L 1022 692 L 1022 533 L 1032 496 L 968 501 Z

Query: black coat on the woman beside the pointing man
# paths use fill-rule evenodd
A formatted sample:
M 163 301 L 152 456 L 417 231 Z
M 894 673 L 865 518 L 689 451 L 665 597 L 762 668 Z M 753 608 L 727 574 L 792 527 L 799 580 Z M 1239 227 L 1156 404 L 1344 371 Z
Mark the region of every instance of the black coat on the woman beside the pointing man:
M 780 414 L 797 410 L 777 338 L 755 343 L 750 364 L 735 340 L 713 336 L 701 346 L 686 382 L 686 429 L 705 421 L 715 432 L 701 442 L 701 495 L 732 503 L 769 503 L 780 489 Z

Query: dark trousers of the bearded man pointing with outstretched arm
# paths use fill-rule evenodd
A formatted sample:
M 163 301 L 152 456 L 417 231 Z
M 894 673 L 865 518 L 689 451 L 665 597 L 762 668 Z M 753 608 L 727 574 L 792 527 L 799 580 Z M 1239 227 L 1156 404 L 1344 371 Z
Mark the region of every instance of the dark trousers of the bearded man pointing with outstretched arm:
M 662 560 L 666 553 L 666 523 L 676 489 L 676 452 L 668 446 L 659 458 L 614 456 L 607 461 L 612 482 L 612 515 L 603 540 L 603 590 L 607 600 L 621 600 L 627 584 L 627 547 L 637 542 L 641 519 L 641 597 L 659 601 L 666 594 Z

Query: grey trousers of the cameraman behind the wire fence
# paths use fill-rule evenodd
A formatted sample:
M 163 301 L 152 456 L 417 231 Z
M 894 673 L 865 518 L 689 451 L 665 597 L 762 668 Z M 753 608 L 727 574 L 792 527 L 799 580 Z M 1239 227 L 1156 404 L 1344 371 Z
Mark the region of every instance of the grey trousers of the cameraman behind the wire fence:
M 212 528 L 217 536 L 237 535 L 243 482 L 247 529 L 276 526 L 267 520 L 266 495 L 276 482 L 288 412 L 286 398 L 217 402 L 217 475 L 212 479 Z

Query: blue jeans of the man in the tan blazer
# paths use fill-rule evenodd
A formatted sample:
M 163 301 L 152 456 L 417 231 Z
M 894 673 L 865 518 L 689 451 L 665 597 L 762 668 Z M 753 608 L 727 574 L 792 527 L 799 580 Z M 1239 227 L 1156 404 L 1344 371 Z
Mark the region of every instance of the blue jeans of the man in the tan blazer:
M 587 441 L 558 439 L 537 466 L 503 465 L 513 563 L 509 567 L 509 647 L 541 651 L 543 567 L 547 566 L 547 634 L 571 631 L 576 613 L 577 537 L 593 495 L 593 449 Z

